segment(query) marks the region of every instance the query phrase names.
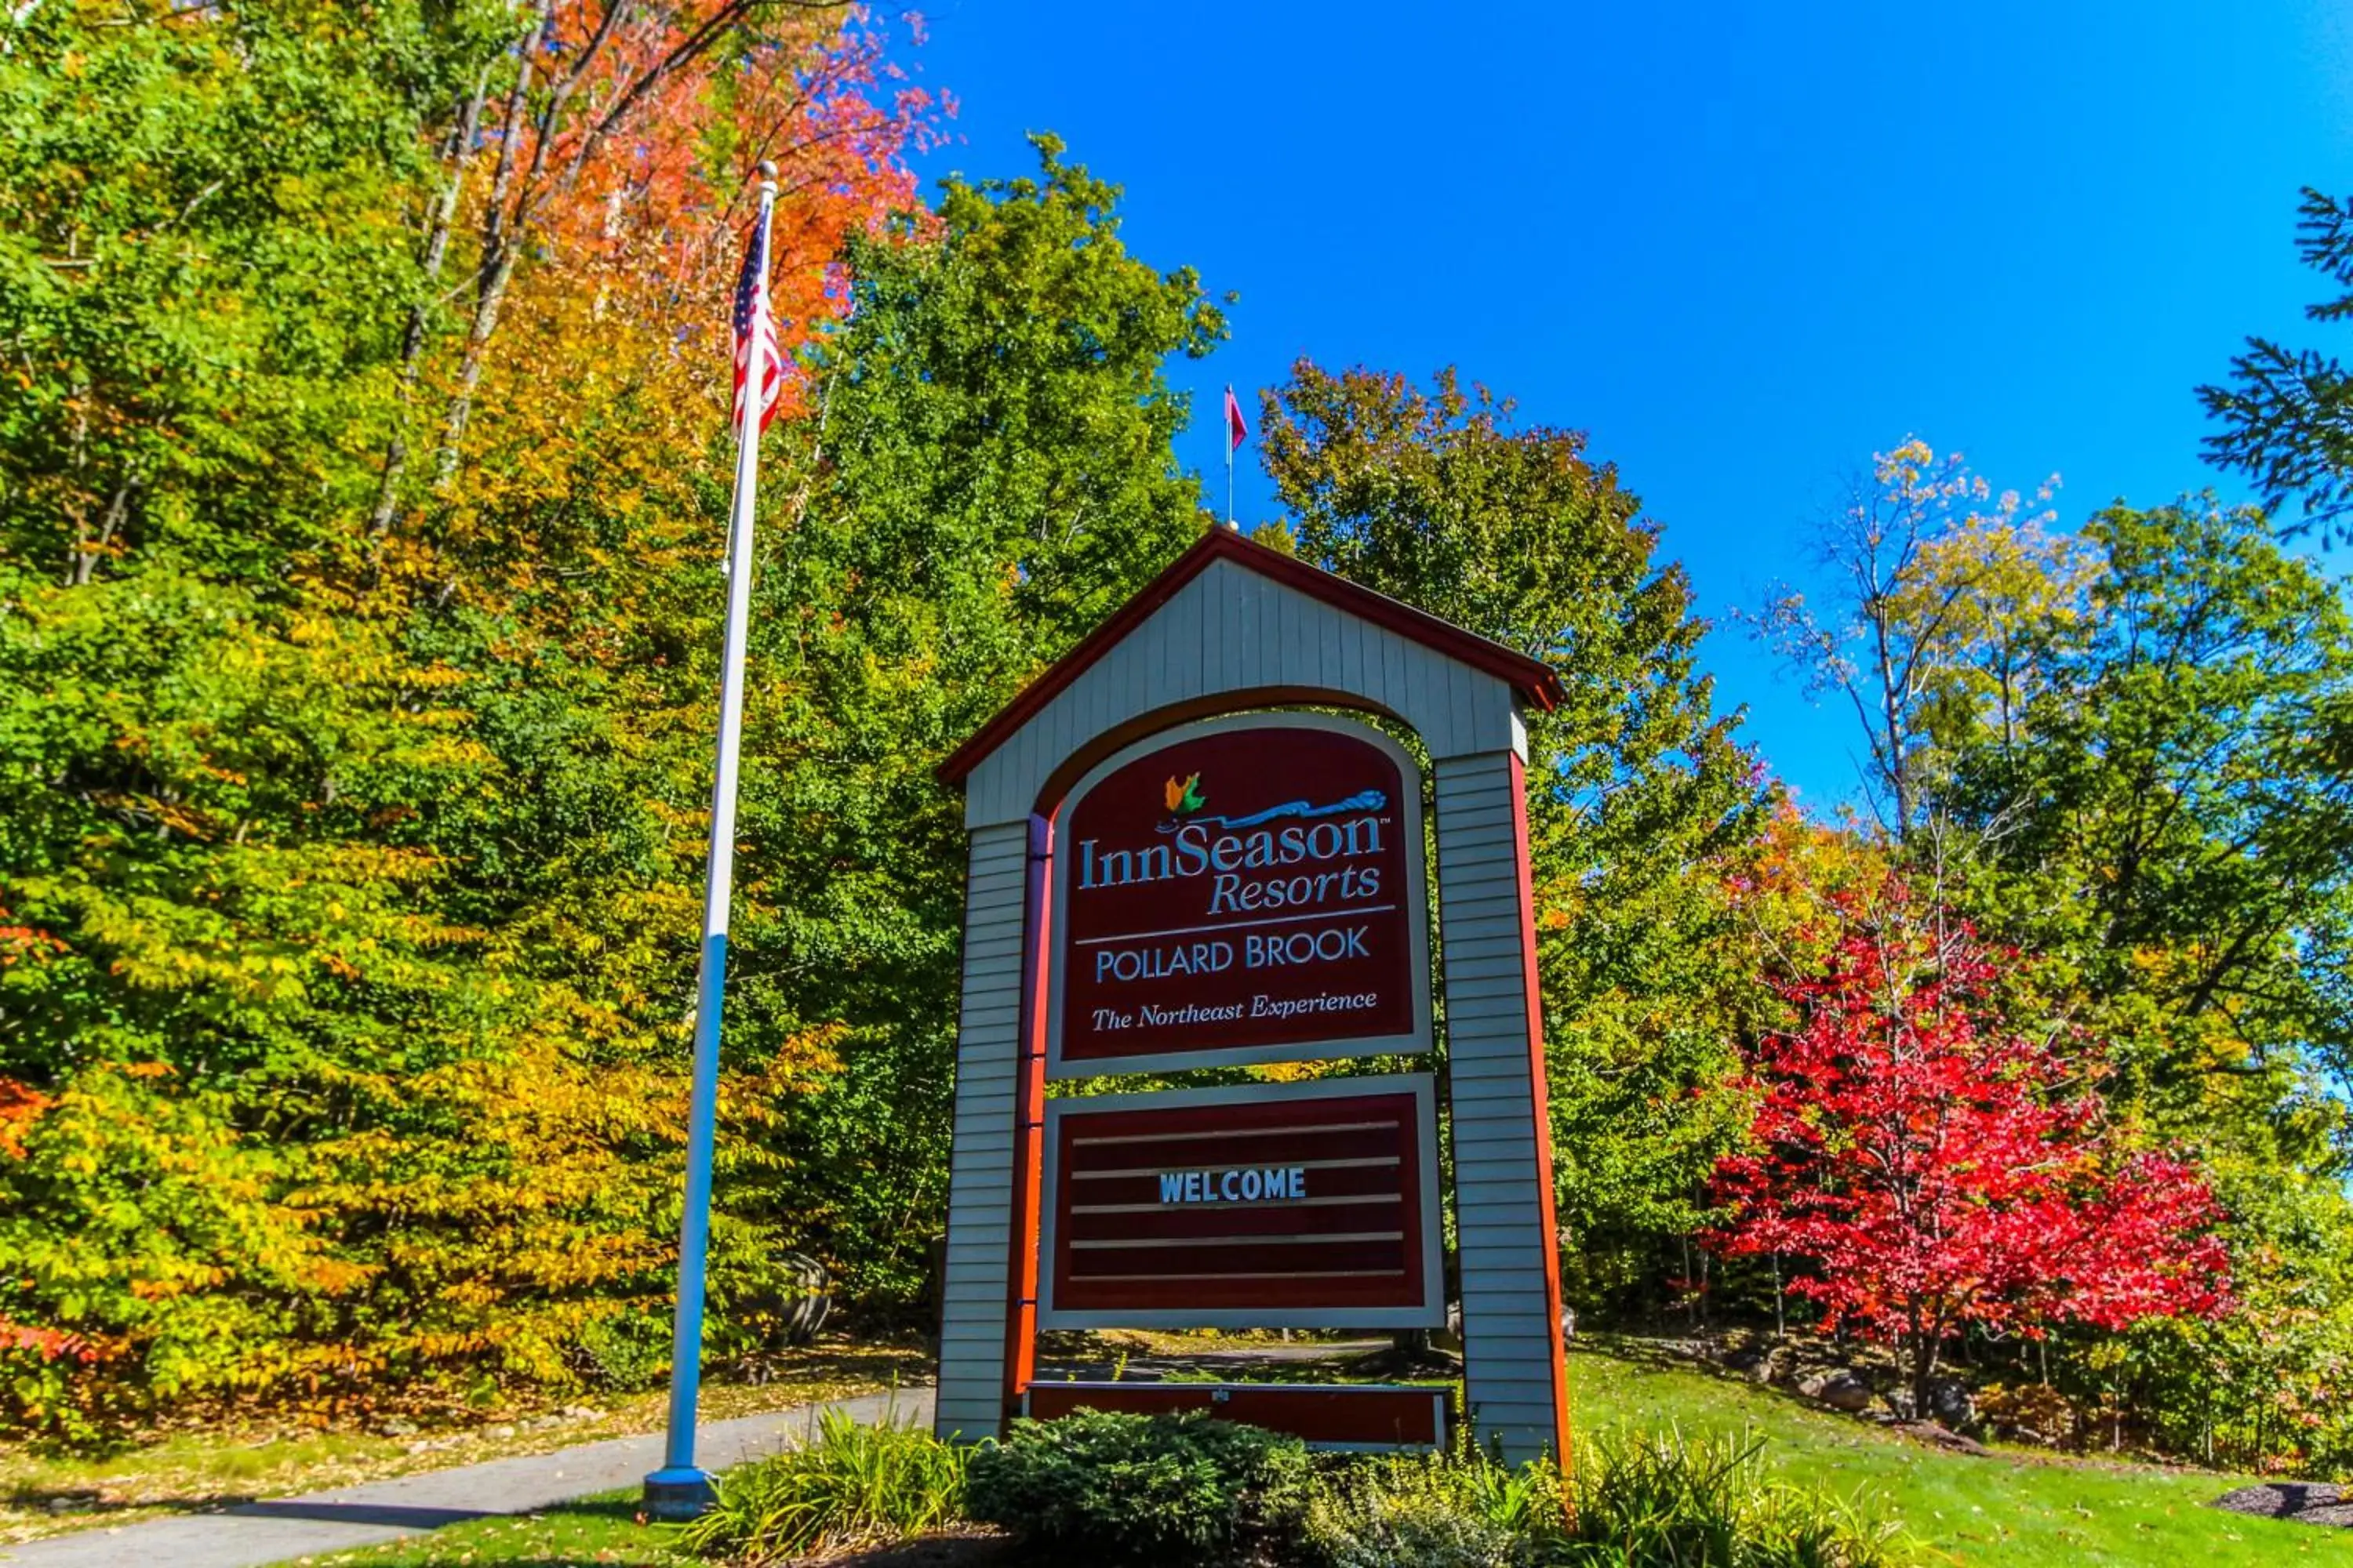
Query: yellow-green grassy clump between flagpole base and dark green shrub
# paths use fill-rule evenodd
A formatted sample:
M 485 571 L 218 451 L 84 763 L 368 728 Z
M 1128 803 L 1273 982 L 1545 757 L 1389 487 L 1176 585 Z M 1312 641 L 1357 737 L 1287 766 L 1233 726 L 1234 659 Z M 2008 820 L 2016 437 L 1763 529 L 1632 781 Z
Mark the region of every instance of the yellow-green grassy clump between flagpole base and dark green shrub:
M 680 1533 L 701 1556 L 753 1563 L 864 1547 L 953 1523 L 965 1450 L 889 1418 L 866 1427 L 824 1410 L 800 1448 L 720 1476 L 718 1505 Z

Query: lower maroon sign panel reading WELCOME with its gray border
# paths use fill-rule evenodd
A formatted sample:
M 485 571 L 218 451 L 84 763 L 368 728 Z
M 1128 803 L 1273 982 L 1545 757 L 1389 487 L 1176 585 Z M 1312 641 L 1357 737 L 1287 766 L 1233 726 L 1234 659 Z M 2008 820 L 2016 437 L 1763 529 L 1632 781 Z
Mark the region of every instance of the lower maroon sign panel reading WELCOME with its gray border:
M 1045 1180 L 1047 1328 L 1445 1319 L 1426 1074 L 1049 1100 Z

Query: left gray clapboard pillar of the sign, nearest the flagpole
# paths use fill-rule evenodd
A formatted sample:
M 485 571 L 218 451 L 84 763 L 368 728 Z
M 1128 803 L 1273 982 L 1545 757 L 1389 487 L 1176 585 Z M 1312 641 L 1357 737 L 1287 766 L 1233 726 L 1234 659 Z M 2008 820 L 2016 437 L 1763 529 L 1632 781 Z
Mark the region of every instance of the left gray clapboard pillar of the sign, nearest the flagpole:
M 1021 914 L 1028 823 L 979 827 L 965 882 L 965 992 L 955 1032 L 955 1152 L 941 1281 L 939 1436 L 995 1436 L 1005 1413 L 1005 1300 L 1021 1067 Z

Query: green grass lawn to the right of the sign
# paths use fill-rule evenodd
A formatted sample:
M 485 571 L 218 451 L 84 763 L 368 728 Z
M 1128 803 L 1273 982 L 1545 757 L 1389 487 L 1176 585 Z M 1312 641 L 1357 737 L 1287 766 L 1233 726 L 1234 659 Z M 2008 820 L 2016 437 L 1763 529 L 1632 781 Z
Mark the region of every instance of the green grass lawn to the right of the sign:
M 1977 1568 L 2280 1568 L 2346 1563 L 2353 1530 L 2200 1507 L 2242 1479 L 2195 1469 L 2071 1465 L 1922 1448 L 1854 1418 L 1699 1371 L 1609 1354 L 1569 1356 L 1579 1432 L 1664 1427 L 1753 1432 L 1779 1474 L 1887 1500 L 1925 1563 Z

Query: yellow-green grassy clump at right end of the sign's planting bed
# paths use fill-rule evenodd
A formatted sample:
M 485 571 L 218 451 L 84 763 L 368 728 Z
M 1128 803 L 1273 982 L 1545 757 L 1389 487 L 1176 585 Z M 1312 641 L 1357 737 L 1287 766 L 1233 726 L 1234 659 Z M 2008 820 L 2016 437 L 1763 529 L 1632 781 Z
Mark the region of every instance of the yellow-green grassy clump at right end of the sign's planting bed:
M 1861 1500 L 1765 1476 L 1760 1441 L 1600 1439 L 1577 1462 L 1567 1568 L 1887 1568 L 1897 1535 Z

